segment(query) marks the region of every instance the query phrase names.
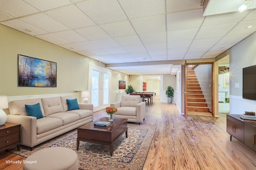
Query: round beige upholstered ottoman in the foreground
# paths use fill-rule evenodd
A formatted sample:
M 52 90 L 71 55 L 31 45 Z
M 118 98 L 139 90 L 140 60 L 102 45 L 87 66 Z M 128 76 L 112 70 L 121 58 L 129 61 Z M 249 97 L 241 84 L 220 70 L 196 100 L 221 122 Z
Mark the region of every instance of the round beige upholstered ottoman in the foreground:
M 64 147 L 42 149 L 23 161 L 23 170 L 78 170 L 78 156 Z

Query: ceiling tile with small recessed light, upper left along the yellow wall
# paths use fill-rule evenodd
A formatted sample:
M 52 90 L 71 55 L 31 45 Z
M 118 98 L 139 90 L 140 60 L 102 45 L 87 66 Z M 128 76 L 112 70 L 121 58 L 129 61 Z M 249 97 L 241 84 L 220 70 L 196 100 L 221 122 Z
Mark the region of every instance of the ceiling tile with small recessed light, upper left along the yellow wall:
M 46 31 L 43 31 L 42 29 L 38 29 L 38 28 L 36 28 L 32 25 L 29 25 L 28 23 L 25 23 L 23 21 L 20 21 L 18 19 L 3 21 L 3 22 L 0 22 L 0 23 L 3 24 L 3 25 L 6 25 L 8 27 L 11 27 L 13 29 L 17 29 L 19 31 L 27 33 L 29 35 L 33 35 L 33 36 L 47 33 Z M 31 30 L 31 31 L 27 31 L 26 29 Z

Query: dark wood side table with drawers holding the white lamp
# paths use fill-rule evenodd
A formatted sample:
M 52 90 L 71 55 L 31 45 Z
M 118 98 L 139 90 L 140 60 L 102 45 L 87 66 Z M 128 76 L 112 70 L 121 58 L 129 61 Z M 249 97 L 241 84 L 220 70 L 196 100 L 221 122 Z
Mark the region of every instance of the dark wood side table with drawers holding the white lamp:
M 0 152 L 16 145 L 20 150 L 20 126 L 10 122 L 0 126 Z

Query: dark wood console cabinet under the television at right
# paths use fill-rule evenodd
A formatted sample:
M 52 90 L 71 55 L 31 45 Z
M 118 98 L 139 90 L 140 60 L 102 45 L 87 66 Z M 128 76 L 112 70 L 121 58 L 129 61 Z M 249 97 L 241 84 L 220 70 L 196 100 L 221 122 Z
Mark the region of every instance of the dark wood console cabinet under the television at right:
M 256 151 L 256 121 L 241 119 L 240 115 L 227 115 L 227 132 L 250 149 Z

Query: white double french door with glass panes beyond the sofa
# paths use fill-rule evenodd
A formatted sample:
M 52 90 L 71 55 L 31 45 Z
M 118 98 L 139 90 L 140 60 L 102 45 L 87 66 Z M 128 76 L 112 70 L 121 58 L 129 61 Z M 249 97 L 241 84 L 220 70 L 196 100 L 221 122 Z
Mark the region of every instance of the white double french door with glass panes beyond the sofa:
M 110 104 L 111 70 L 89 64 L 88 90 L 94 111 L 105 109 Z

